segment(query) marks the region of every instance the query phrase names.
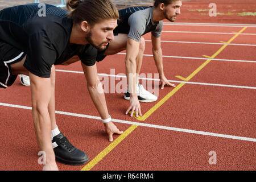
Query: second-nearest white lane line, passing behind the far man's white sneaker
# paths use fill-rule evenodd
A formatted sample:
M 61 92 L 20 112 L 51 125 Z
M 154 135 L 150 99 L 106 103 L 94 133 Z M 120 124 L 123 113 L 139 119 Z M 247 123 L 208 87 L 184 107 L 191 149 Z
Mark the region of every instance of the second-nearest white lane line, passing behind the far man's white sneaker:
M 84 74 L 84 72 L 80 71 L 70 71 L 70 70 L 61 70 L 56 69 L 57 72 L 67 72 L 67 73 L 79 73 Z M 126 76 L 122 75 L 109 75 L 105 73 L 98 73 L 99 76 L 109 76 L 109 77 L 118 77 L 118 78 L 126 78 Z M 152 81 L 160 81 L 159 79 L 155 78 L 142 78 L 139 77 L 140 80 L 152 80 Z M 210 83 L 204 83 L 204 82 L 191 82 L 191 81 L 177 81 L 177 80 L 168 80 L 170 82 L 177 82 L 177 83 L 185 83 L 185 84 L 195 84 L 195 85 L 208 85 L 208 86 L 223 86 L 223 87 L 230 87 L 230 88 L 241 88 L 241 89 L 256 89 L 256 87 L 253 86 L 240 86 L 240 85 L 225 85 L 225 84 L 210 84 Z

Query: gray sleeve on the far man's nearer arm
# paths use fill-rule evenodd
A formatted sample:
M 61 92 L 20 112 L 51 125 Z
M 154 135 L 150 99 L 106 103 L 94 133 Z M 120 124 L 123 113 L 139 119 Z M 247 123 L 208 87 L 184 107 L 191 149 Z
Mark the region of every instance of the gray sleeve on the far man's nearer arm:
M 146 30 L 146 19 L 138 15 L 136 16 L 134 13 L 129 17 L 128 24 L 130 26 L 130 31 L 127 37 L 140 42 L 141 36 Z

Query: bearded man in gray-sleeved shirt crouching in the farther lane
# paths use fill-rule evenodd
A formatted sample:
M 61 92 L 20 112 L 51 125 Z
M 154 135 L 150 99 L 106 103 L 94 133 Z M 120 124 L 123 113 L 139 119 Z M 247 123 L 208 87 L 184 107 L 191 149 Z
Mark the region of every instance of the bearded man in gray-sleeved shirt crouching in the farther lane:
M 101 61 L 107 55 L 113 55 L 126 49 L 126 77 L 129 88 L 125 93 L 125 99 L 130 100 L 130 106 L 126 114 L 131 111 L 133 116 L 142 115 L 141 102 L 154 102 L 157 97 L 148 92 L 138 83 L 138 75 L 141 70 L 145 40 L 142 35 L 151 32 L 152 53 L 160 77 L 161 89 L 164 85 L 174 86 L 164 76 L 163 58 L 160 44 L 160 35 L 163 29 L 163 19 L 174 22 L 180 14 L 181 0 L 155 0 L 154 6 L 137 6 L 119 10 L 119 22 L 114 30 L 114 40 L 101 52 L 98 52 L 97 61 Z

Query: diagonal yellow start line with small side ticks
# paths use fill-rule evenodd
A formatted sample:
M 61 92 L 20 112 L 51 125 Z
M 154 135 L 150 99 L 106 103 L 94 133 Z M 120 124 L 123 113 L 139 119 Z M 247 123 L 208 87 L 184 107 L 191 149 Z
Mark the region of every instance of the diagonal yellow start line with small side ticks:
M 181 78 L 181 80 L 189 81 L 192 77 L 194 77 L 198 72 L 201 71 L 208 63 L 210 63 L 211 59 L 216 57 L 223 49 L 225 49 L 228 44 L 230 44 L 234 39 L 237 38 L 239 34 L 241 34 L 247 27 L 242 28 L 241 31 L 237 32 L 236 35 L 234 35 L 224 46 L 222 46 L 214 55 L 209 57 L 207 61 L 205 61 L 202 65 L 200 65 L 199 68 L 197 68 L 191 75 L 189 75 L 187 78 L 177 76 L 178 78 Z M 162 100 L 160 100 L 155 106 L 153 106 L 150 110 L 148 110 L 142 117 L 138 117 L 137 119 L 139 121 L 145 121 L 152 113 L 154 113 L 160 106 L 164 104 L 171 96 L 173 96 L 182 86 L 184 86 L 185 83 L 180 83 L 177 85 L 170 93 L 168 93 Z M 100 152 L 93 160 L 91 160 L 88 164 L 86 164 L 85 167 L 81 169 L 81 171 L 89 171 L 92 169 L 98 162 L 100 162 L 106 155 L 109 154 L 110 151 L 113 150 L 120 142 L 122 142 L 123 139 L 125 139 L 129 134 L 131 134 L 138 125 L 131 125 L 129 129 L 127 129 L 123 134 L 121 134 L 117 139 L 115 139 L 112 143 L 109 144 L 108 147 L 106 147 L 103 151 Z

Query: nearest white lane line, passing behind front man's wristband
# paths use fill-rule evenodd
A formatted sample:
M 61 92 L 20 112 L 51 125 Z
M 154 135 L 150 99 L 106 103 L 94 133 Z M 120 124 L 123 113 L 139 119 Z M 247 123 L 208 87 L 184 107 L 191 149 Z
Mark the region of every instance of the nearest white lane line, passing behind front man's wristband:
M 1 103 L 1 106 L 6 106 L 6 107 L 14 107 L 14 108 L 19 108 L 19 109 L 27 109 L 27 110 L 32 110 L 32 107 L 27 107 L 27 106 L 20 106 L 20 105 L 13 105 L 13 104 L 6 104 L 6 103 Z M 100 117 L 93 116 L 93 115 L 85 115 L 85 114 L 77 114 L 77 113 L 69 113 L 69 112 L 64 112 L 64 111 L 55 111 L 56 114 L 62 114 L 62 115 L 69 115 L 73 117 L 79 117 L 79 118 L 90 118 L 90 119 L 97 119 L 101 120 Z M 147 124 L 147 123 L 140 123 L 140 122 L 133 122 L 133 121 L 125 121 L 121 119 L 112 119 L 113 122 L 118 122 L 118 123 L 125 123 L 128 125 L 138 125 L 138 126 L 144 126 L 144 127 L 152 127 L 154 129 L 162 129 L 162 130 L 170 130 L 170 131 L 179 131 L 179 132 L 184 132 L 184 133 L 191 133 L 191 134 L 198 134 L 198 135 L 207 135 L 211 137 L 220 137 L 220 138 L 229 138 L 229 139 L 237 139 L 237 140 L 245 140 L 245 141 L 250 141 L 250 142 L 256 142 L 255 138 L 248 138 L 248 137 L 238 137 L 234 135 L 226 135 L 226 134 L 217 134 L 217 133 L 209 133 L 205 131 L 197 131 L 197 130 L 187 130 L 187 129 L 180 129 L 177 127 L 169 127 L 169 126 L 161 126 L 161 125 L 152 125 L 152 124 Z

